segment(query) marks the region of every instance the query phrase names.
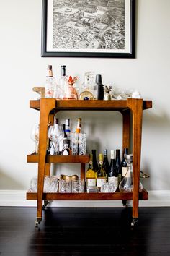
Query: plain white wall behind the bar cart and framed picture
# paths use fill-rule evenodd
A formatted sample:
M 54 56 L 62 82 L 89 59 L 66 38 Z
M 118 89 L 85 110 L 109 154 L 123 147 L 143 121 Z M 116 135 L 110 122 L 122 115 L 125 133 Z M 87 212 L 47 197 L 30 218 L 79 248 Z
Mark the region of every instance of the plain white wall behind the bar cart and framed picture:
M 105 85 L 137 88 L 153 101 L 153 108 L 143 113 L 142 143 L 142 168 L 151 178 L 142 182 L 150 191 L 169 191 L 170 1 L 138 0 L 136 16 L 135 59 L 41 58 L 41 0 L 0 1 L 0 189 L 26 190 L 37 174 L 37 165 L 26 162 L 34 147 L 30 129 L 39 117 L 29 108 L 30 99 L 36 98 L 32 87 L 43 85 L 48 64 L 58 77 L 66 64 L 67 74 L 78 75 L 80 83 L 84 72 L 94 70 Z M 120 114 L 73 114 L 65 112 L 61 119 L 81 116 L 93 140 L 90 148 L 97 140 L 99 150 L 122 147 Z

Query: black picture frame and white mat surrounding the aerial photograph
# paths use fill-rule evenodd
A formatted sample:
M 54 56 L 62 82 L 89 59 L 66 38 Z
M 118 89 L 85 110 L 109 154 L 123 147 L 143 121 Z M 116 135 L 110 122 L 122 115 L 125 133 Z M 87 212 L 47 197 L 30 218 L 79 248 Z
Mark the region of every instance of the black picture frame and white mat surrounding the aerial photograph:
M 125 10 L 125 17 L 128 16 L 128 40 L 126 35 L 124 35 L 124 41 L 128 42 L 128 50 L 116 49 L 114 50 L 99 50 L 96 48 L 93 50 L 83 51 L 81 48 L 68 49 L 55 49 L 53 51 L 48 49 L 48 20 L 53 20 L 53 17 L 48 13 L 48 5 L 53 0 L 42 0 L 42 46 L 41 46 L 41 56 L 42 57 L 87 57 L 87 58 L 135 58 L 135 0 L 125 0 L 125 4 L 128 4 L 128 12 Z M 57 0 L 55 0 L 57 1 Z M 61 1 L 61 0 L 58 0 Z M 108 0 L 109 1 L 109 0 Z M 123 0 L 120 0 L 123 1 Z M 91 3 L 93 1 L 91 0 Z M 52 4 L 52 3 L 50 3 Z M 52 26 L 51 26 L 52 27 Z M 125 28 L 125 22 L 124 22 Z M 51 30 L 52 28 L 50 28 Z M 112 29 L 112 28 L 111 28 Z M 107 30 L 108 31 L 108 30 Z M 117 33 L 117 35 L 119 35 Z M 50 37 L 51 38 L 51 37 Z M 105 41 L 106 42 L 106 41 Z M 52 45 L 52 44 L 51 44 Z M 105 45 L 106 46 L 106 45 Z M 111 52 L 112 51 L 112 52 Z

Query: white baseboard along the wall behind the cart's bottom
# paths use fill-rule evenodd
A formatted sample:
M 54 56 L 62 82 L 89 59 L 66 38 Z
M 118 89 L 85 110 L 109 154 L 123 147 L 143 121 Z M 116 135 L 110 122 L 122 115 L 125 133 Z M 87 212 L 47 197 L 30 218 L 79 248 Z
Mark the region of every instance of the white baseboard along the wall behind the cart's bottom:
M 149 191 L 148 200 L 140 200 L 141 207 L 170 206 L 170 190 Z M 131 202 L 129 202 L 131 204 Z M 0 206 L 36 206 L 36 200 L 26 200 L 26 191 L 0 190 Z M 51 201 L 54 207 L 119 207 L 120 200 L 105 201 Z

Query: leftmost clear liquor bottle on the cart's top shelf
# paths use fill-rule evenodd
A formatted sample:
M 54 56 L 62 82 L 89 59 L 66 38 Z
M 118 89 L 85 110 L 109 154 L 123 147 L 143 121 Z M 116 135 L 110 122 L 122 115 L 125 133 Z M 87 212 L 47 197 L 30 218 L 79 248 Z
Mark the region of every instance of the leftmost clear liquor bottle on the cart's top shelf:
M 48 71 L 45 81 L 45 98 L 53 98 L 55 90 L 55 78 L 53 77 L 52 65 L 48 65 Z

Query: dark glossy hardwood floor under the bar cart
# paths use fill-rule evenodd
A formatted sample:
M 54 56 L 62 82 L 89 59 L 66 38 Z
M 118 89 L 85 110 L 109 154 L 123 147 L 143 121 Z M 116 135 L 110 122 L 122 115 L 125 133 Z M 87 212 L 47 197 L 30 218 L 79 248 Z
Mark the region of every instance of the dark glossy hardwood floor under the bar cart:
M 0 256 L 169 256 L 170 208 L 140 208 L 130 228 L 131 208 L 45 208 L 35 228 L 36 208 L 0 208 Z

